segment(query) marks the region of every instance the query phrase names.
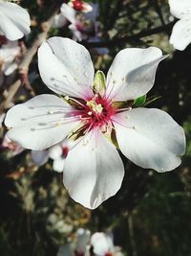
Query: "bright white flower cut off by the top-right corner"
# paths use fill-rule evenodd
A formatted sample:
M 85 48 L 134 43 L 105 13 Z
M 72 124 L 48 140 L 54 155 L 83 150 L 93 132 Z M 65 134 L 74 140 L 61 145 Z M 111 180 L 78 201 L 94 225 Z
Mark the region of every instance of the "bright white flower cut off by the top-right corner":
M 169 0 L 170 12 L 180 20 L 174 25 L 170 43 L 182 51 L 191 43 L 191 1 Z

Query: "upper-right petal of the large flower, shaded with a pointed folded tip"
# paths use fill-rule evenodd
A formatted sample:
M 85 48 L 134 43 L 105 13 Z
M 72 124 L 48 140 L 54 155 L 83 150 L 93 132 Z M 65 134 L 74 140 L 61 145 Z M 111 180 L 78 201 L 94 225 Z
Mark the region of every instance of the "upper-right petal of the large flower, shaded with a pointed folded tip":
M 143 96 L 153 87 L 159 61 L 163 58 L 157 47 L 120 51 L 107 74 L 106 94 L 116 101 Z

